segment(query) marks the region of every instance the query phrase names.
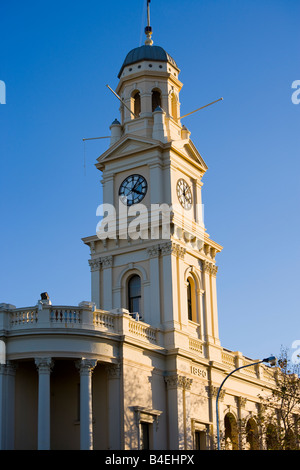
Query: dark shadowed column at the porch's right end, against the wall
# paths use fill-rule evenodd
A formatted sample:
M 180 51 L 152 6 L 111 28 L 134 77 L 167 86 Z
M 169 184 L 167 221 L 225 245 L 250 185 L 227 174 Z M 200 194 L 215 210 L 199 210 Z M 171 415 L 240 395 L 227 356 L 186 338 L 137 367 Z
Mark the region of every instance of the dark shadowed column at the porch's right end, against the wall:
M 121 450 L 121 370 L 119 364 L 106 367 L 108 378 L 108 442 L 110 450 Z

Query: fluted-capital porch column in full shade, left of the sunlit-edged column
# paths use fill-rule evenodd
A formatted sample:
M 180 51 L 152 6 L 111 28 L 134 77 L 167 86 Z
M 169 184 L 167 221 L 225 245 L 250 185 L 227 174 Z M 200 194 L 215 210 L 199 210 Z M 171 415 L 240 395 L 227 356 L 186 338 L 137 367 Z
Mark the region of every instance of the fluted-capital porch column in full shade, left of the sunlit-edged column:
M 38 450 L 50 450 L 50 374 L 51 357 L 35 359 L 39 373 L 38 391 Z

